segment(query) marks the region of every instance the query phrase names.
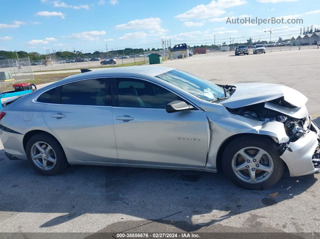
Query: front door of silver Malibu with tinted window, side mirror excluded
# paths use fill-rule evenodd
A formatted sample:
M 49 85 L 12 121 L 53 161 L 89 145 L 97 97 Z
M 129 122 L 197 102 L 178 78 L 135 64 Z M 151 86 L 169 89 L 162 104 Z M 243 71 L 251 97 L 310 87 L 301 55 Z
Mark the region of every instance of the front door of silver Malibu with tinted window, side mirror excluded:
M 204 111 L 169 114 L 166 104 L 183 100 L 177 94 L 145 79 L 115 78 L 114 83 L 112 115 L 119 163 L 204 168 L 208 147 Z

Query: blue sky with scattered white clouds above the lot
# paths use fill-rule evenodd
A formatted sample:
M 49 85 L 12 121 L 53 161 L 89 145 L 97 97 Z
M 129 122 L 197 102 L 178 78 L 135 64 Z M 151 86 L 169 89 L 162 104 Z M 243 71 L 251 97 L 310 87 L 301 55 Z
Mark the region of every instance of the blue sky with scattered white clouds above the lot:
M 54 50 L 161 48 L 161 39 L 188 45 L 249 37 L 297 36 L 300 27 L 320 28 L 319 0 L 1 0 L 0 49 Z M 14 10 L 14 11 L 13 11 Z M 226 24 L 245 17 L 303 19 L 295 24 Z

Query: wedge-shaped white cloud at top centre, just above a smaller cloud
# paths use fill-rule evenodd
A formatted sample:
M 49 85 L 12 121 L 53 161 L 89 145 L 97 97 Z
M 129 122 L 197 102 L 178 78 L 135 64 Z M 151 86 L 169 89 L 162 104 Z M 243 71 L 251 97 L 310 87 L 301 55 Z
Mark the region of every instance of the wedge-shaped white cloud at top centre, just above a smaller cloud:
M 161 28 L 160 18 L 145 18 L 132 20 L 125 24 L 116 25 L 115 29 L 158 29 Z

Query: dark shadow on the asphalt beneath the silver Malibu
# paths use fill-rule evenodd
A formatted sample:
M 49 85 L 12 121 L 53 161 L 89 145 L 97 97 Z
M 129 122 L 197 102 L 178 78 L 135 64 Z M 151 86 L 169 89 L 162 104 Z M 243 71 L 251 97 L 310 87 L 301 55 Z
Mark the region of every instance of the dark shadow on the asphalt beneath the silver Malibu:
M 102 232 L 123 231 L 142 221 L 172 225 L 173 217 L 174 227 L 192 232 L 306 191 L 316 197 L 308 191 L 317 181 L 314 175 L 291 178 L 287 171 L 272 188 L 256 191 L 237 187 L 223 173 L 75 165 L 63 174 L 43 176 L 25 160 L 6 159 L 3 150 L 0 158 L 1 211 L 63 213 L 44 221 L 41 228 L 87 213 L 112 213 L 116 222 Z M 278 196 L 268 196 L 274 192 Z M 130 224 L 119 214 L 142 221 Z

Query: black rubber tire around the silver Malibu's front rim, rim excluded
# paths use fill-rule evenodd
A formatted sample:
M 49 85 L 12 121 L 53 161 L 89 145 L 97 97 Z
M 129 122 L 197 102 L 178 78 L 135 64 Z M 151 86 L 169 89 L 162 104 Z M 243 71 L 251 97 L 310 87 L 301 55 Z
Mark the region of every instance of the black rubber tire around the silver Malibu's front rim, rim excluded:
M 273 171 L 270 176 L 260 183 L 248 183 L 241 180 L 233 171 L 232 159 L 234 155 L 245 147 L 258 147 L 265 150 L 272 158 Z M 226 176 L 237 186 L 248 190 L 263 190 L 272 187 L 281 178 L 284 162 L 280 159 L 280 151 L 275 142 L 270 138 L 259 135 L 245 135 L 231 140 L 225 147 L 222 155 L 222 167 Z

